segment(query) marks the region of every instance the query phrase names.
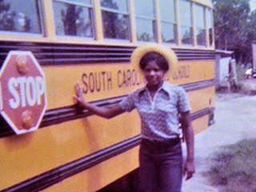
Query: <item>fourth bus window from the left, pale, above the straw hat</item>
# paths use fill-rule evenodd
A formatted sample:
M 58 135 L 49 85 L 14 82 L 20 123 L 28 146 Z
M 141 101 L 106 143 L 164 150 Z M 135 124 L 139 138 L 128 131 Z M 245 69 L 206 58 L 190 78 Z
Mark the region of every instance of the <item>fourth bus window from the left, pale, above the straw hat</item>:
M 135 18 L 138 41 L 156 42 L 153 0 L 135 0 Z

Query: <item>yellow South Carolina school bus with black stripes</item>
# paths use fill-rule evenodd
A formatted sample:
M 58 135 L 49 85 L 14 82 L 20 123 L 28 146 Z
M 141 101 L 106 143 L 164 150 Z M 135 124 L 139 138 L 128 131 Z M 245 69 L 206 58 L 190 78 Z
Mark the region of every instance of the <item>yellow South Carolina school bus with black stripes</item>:
M 30 51 L 46 79 L 37 130 L 16 134 L 0 117 L 0 191 L 136 191 L 137 112 L 106 120 L 74 105 L 112 106 L 145 85 L 130 65 L 139 45 L 178 57 L 168 82 L 185 88 L 194 133 L 214 122 L 214 30 L 210 0 L 2 0 L 0 66 Z M 5 99 L 5 98 L 2 98 Z M 19 118 L 19 117 L 17 117 Z

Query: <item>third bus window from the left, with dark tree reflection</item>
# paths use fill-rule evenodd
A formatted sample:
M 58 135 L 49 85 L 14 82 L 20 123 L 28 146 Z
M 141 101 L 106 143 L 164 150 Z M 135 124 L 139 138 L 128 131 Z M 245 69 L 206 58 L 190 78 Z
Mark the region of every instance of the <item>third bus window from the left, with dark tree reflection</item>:
M 130 40 L 127 0 L 101 0 L 104 38 Z

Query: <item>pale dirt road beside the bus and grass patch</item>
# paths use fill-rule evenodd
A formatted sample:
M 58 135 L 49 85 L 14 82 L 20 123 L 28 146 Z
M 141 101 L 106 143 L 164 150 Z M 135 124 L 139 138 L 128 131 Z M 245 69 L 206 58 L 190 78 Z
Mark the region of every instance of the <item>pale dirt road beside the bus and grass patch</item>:
M 209 170 L 208 159 L 219 150 L 219 146 L 256 138 L 256 96 L 217 94 L 215 106 L 214 125 L 195 136 L 197 173 L 194 178 L 183 182 L 182 192 L 218 191 L 202 175 Z

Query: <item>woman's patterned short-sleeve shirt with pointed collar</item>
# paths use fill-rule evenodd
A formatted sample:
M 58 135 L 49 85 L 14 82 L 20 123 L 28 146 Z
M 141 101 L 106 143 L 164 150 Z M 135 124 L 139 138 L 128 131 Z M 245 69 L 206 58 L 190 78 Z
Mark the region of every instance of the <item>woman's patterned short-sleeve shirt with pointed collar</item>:
M 138 110 L 142 138 L 151 141 L 164 141 L 181 134 L 178 115 L 191 109 L 185 90 L 167 82 L 163 82 L 153 101 L 149 91 L 143 87 L 129 94 L 119 105 L 128 112 L 135 108 Z

